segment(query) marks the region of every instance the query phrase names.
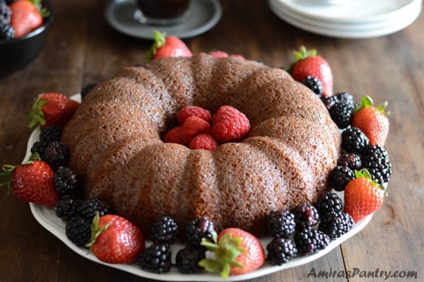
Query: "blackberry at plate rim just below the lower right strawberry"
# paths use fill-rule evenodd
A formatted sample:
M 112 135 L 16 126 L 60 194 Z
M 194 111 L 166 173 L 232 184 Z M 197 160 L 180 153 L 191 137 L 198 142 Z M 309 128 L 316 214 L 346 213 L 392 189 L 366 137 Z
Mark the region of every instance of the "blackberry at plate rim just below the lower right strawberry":
M 336 239 L 343 234 L 348 233 L 353 227 L 353 218 L 349 213 L 331 213 L 325 221 L 318 225 L 318 230 L 321 230 L 330 239 Z

